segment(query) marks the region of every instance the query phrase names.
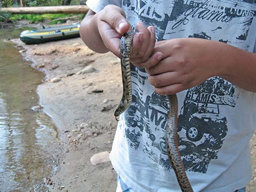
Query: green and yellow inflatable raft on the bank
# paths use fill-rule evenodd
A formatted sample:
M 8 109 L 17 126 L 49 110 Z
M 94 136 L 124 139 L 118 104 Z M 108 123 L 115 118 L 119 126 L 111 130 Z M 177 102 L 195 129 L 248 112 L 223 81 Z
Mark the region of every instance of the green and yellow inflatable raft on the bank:
M 20 34 L 20 40 L 25 44 L 42 44 L 49 41 L 59 41 L 64 39 L 78 38 L 80 24 L 69 26 L 25 30 Z

